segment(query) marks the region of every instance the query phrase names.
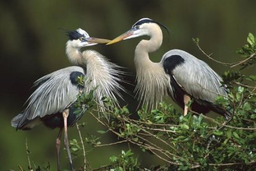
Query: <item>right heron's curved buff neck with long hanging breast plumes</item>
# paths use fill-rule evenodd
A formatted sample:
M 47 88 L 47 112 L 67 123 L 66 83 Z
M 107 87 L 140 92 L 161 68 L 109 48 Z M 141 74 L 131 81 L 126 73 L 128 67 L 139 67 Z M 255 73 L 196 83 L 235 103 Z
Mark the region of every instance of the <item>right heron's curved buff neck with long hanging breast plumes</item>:
M 140 103 L 152 109 L 163 101 L 168 94 L 170 78 L 164 72 L 163 64 L 153 63 L 149 52 L 156 51 L 162 43 L 163 34 L 159 26 L 150 27 L 150 40 L 141 40 L 135 49 L 134 64 L 136 67 L 136 96 Z

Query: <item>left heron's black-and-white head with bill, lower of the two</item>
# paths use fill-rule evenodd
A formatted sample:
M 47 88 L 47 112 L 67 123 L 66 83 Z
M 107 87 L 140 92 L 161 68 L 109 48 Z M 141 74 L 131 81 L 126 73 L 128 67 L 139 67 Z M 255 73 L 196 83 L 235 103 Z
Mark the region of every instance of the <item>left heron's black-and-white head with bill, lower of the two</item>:
M 108 43 L 110 40 L 101 39 L 101 38 L 91 38 L 86 31 L 83 29 L 77 29 L 76 31 L 67 31 L 67 36 L 69 40 L 67 44 L 72 45 L 75 48 L 82 48 L 93 46 L 98 43 Z

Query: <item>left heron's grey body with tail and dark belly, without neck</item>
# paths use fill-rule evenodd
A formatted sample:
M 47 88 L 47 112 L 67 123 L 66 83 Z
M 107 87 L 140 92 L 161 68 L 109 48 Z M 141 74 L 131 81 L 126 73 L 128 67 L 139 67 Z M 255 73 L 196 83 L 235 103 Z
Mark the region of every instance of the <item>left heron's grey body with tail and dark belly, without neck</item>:
M 84 76 L 85 73 L 86 68 L 84 70 L 79 66 L 70 66 L 37 80 L 34 86 L 38 87 L 29 97 L 28 107 L 12 120 L 12 126 L 29 130 L 42 122 L 50 128 L 63 127 L 62 112 L 76 101 L 79 90 L 83 89 L 77 84 L 76 77 Z M 72 115 L 70 112 L 68 126 L 76 120 Z

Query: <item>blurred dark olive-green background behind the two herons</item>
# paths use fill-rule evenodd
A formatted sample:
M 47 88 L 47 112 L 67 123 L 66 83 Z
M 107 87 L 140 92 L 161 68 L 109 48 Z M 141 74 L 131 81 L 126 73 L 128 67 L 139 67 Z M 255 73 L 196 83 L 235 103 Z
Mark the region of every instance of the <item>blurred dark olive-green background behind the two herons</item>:
M 32 165 L 46 166 L 56 170 L 56 136 L 58 130 L 50 130 L 44 125 L 31 131 L 15 131 L 10 126 L 12 117 L 24 109 L 24 102 L 38 78 L 70 66 L 65 56 L 68 40 L 62 29 L 75 30 L 79 27 L 90 36 L 113 39 L 124 33 L 137 20 L 148 17 L 161 22 L 172 30 L 168 36 L 163 31 L 162 47 L 150 54 L 152 61 L 160 61 L 165 52 L 173 48 L 187 52 L 208 63 L 220 75 L 230 70 L 227 66 L 207 59 L 193 43 L 192 38 L 200 38 L 201 47 L 214 59 L 233 63 L 242 59 L 235 53 L 246 42 L 249 32 L 256 34 L 256 1 L 45 1 L 8 0 L 0 2 L 0 48 L 1 48 L 1 129 L 0 129 L 0 170 L 18 170 L 18 165 L 28 168 L 26 138 Z M 125 78 L 134 84 L 134 48 L 140 38 L 121 41 L 114 45 L 90 47 L 108 57 L 113 63 L 125 67 L 132 73 Z M 238 70 L 239 68 L 234 68 Z M 255 68 L 243 73 L 255 74 Z M 130 93 L 133 85 L 124 85 Z M 132 96 L 124 94 L 125 101 L 133 113 L 138 103 Z M 170 101 L 172 103 L 172 101 Z M 177 107 L 178 108 L 178 107 Z M 134 113 L 134 117 L 136 114 Z M 111 134 L 97 133 L 100 128 L 95 119 L 84 115 L 80 123 L 86 123 L 81 130 L 83 137 L 95 134 L 102 143 L 115 142 Z M 69 129 L 69 138 L 78 138 L 76 128 Z M 86 146 L 86 148 L 88 148 Z M 88 152 L 87 160 L 93 168 L 109 163 L 109 156 L 120 154 L 127 145 L 98 147 Z M 134 147 L 141 165 L 161 164 L 147 152 L 141 153 Z M 67 155 L 61 151 L 61 167 L 68 169 Z M 75 167 L 83 165 L 83 158 L 74 159 Z

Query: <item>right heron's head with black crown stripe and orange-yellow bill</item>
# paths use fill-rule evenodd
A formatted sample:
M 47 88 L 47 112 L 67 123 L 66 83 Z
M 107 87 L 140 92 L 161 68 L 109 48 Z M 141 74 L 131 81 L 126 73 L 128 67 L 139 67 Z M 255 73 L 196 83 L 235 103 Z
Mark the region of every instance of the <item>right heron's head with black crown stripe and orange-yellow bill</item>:
M 136 38 L 139 36 L 151 36 L 152 31 L 154 31 L 154 28 L 159 27 L 158 25 L 161 25 L 161 24 L 159 24 L 158 22 L 156 22 L 152 19 L 148 19 L 148 18 L 140 19 L 140 20 L 138 20 L 138 22 L 136 22 L 132 26 L 132 28 L 129 31 L 118 36 L 114 40 L 111 40 L 109 43 L 107 43 L 107 45 L 116 43 L 121 40 L 127 40 L 129 38 Z

